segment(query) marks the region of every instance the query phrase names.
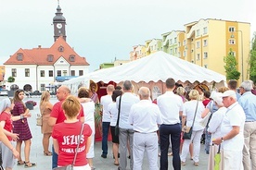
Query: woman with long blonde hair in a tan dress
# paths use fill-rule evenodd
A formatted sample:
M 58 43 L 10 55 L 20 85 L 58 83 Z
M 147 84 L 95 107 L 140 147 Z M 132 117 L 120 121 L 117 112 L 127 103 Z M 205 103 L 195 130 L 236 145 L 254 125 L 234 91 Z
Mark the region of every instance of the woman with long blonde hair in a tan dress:
M 43 133 L 43 148 L 45 156 L 51 156 L 52 152 L 49 152 L 49 139 L 52 135 L 53 128 L 48 125 L 48 119 L 50 117 L 53 104 L 50 103 L 50 92 L 44 91 L 40 101 L 40 113 L 43 118 L 43 125 L 41 131 Z

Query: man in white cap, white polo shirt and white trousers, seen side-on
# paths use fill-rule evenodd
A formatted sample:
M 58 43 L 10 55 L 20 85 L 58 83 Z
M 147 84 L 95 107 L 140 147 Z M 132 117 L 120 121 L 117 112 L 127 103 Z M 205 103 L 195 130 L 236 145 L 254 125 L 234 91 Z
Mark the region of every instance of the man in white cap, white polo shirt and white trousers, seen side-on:
M 224 91 L 223 103 L 227 108 L 221 127 L 221 138 L 212 142 L 222 144 L 224 151 L 224 169 L 243 170 L 242 151 L 244 147 L 245 113 L 235 91 Z

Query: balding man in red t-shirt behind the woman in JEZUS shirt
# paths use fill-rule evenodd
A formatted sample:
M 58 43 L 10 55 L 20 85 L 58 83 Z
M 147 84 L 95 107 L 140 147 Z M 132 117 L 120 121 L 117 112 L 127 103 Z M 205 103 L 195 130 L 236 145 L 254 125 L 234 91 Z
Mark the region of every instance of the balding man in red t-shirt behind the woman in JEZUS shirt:
M 66 117 L 64 115 L 63 109 L 61 107 L 64 100 L 70 95 L 70 89 L 67 86 L 60 86 L 57 90 L 56 97 L 58 99 L 58 103 L 55 103 L 53 109 L 51 111 L 51 115 L 48 119 L 48 125 L 53 127 L 58 123 L 64 122 Z M 84 121 L 84 113 L 83 113 L 83 106 L 81 105 L 80 114 L 77 116 L 80 121 Z M 58 166 L 58 154 L 54 151 L 53 148 L 53 155 L 52 155 L 52 168 Z

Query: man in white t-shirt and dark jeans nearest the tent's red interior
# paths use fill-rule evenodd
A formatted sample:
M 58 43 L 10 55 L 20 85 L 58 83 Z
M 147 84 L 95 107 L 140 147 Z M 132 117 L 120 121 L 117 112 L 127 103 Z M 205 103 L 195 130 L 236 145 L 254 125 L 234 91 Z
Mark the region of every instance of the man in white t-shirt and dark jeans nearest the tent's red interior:
M 100 104 L 102 106 L 102 158 L 107 158 L 108 154 L 108 134 L 110 127 L 110 114 L 108 111 L 109 103 L 112 103 L 112 93 L 115 90 L 114 86 L 109 84 L 107 87 L 107 95 L 102 96 Z

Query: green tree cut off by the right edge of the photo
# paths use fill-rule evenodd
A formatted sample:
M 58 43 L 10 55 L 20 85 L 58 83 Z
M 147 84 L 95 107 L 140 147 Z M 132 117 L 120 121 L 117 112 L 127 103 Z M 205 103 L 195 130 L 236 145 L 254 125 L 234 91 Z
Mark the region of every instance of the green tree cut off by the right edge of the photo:
M 254 37 L 252 39 L 249 66 L 250 79 L 253 80 L 253 82 L 256 82 L 256 32 L 254 32 Z

